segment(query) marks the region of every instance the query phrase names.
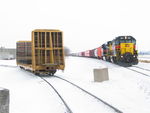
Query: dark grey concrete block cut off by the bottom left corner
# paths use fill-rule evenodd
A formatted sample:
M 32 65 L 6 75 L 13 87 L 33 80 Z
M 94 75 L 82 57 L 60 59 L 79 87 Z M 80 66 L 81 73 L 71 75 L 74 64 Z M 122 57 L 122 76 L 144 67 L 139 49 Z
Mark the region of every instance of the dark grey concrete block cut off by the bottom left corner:
M 0 113 L 9 113 L 9 90 L 0 88 Z

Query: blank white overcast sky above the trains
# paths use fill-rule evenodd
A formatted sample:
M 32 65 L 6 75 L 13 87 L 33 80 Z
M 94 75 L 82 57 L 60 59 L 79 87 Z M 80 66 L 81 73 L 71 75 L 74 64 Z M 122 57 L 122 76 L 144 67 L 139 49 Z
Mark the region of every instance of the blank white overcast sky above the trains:
M 60 29 L 73 52 L 96 48 L 119 35 L 132 35 L 150 50 L 149 0 L 2 0 L 0 46 L 31 40 L 34 29 Z

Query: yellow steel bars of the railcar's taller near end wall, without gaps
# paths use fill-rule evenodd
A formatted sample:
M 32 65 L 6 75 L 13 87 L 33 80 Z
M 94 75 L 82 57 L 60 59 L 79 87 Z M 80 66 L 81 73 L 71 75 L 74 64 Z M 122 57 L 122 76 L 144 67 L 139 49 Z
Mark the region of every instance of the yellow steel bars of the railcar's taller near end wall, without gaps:
M 34 32 L 45 32 L 45 48 L 41 48 L 41 47 L 39 47 L 39 45 L 38 45 L 38 47 L 36 47 L 35 48 L 35 43 L 34 43 Z M 50 32 L 50 42 L 49 42 L 49 44 L 50 44 L 50 47 L 48 48 L 47 46 L 46 46 L 46 32 Z M 54 69 L 62 69 L 62 70 L 64 70 L 64 67 L 65 67 L 65 64 L 64 64 L 64 47 L 62 46 L 61 48 L 60 47 L 53 47 L 53 42 L 52 42 L 52 32 L 61 32 L 61 31 L 59 31 L 59 30 L 34 30 L 34 31 L 32 31 L 32 67 L 33 67 L 33 71 L 35 71 L 35 70 L 38 70 L 38 69 L 44 69 L 44 66 L 37 66 L 36 65 L 36 56 L 35 56 L 35 49 L 37 49 L 37 50 L 50 50 L 50 67 L 53 67 Z M 62 32 L 61 32 L 62 33 Z M 38 38 L 39 38 L 39 36 L 38 36 Z M 58 38 L 58 37 L 57 37 Z M 39 41 L 39 39 L 38 39 L 38 41 Z M 54 40 L 55 41 L 55 40 Z M 42 43 L 42 42 L 41 42 Z M 55 42 L 54 42 L 55 43 Z M 38 43 L 39 44 L 39 43 Z M 62 33 L 62 45 L 63 45 L 63 33 Z M 62 60 L 63 60 L 63 65 L 58 65 L 58 66 L 56 66 L 56 65 L 54 65 L 54 53 L 53 53 L 53 51 L 54 50 L 60 50 L 60 49 L 62 49 Z M 59 52 L 59 51 L 58 51 Z M 60 53 L 58 53 L 58 54 L 60 54 Z M 58 57 L 60 57 L 59 55 L 58 55 Z M 42 56 L 42 58 L 43 58 L 43 56 Z M 45 63 L 46 63 L 46 61 L 47 61 L 47 51 L 45 51 Z

